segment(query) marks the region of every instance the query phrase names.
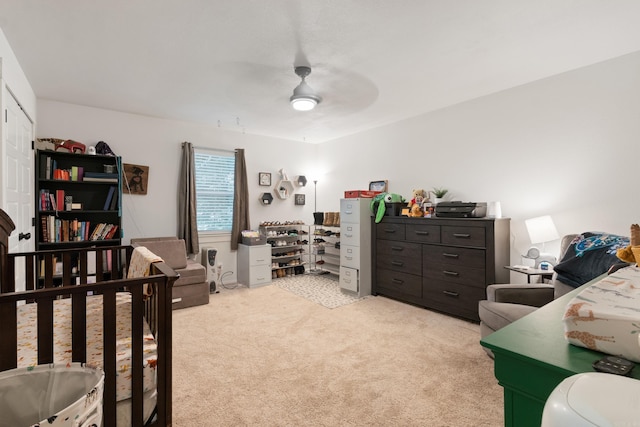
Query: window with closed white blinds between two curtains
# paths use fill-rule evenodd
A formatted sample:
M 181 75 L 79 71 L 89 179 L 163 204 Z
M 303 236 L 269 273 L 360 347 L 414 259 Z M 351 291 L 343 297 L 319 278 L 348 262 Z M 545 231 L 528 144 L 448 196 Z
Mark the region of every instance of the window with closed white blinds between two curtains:
M 198 231 L 231 232 L 234 153 L 195 150 Z

